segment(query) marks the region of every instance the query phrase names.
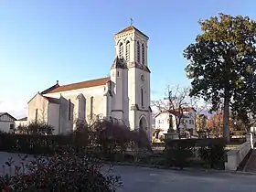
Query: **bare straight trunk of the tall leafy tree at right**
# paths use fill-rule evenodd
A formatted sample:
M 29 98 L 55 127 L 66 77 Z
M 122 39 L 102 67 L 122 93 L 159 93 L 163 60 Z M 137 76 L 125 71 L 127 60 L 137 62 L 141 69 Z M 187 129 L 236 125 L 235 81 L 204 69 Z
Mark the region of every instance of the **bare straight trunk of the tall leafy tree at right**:
M 223 110 L 223 137 L 227 142 L 230 141 L 229 135 L 229 90 L 225 90 L 224 110 Z

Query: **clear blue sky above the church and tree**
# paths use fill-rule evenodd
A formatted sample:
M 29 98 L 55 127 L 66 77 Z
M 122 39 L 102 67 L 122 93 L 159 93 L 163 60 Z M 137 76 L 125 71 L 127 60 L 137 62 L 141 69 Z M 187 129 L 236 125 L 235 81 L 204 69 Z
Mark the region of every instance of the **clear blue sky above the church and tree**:
M 0 0 L 0 112 L 26 114 L 27 101 L 53 85 L 107 76 L 113 34 L 134 26 L 149 39 L 151 97 L 167 85 L 189 85 L 183 49 L 198 19 L 219 12 L 256 19 L 247 0 Z

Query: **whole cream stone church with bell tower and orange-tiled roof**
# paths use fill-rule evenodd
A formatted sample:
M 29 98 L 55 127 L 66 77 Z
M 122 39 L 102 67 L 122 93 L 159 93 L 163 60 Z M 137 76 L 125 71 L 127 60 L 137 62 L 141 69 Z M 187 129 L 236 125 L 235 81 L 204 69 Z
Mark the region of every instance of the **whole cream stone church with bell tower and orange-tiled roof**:
M 67 85 L 59 81 L 28 101 L 27 122 L 51 124 L 55 134 L 69 133 L 77 121 L 119 120 L 131 130 L 151 133 L 148 37 L 133 26 L 114 35 L 110 77 Z

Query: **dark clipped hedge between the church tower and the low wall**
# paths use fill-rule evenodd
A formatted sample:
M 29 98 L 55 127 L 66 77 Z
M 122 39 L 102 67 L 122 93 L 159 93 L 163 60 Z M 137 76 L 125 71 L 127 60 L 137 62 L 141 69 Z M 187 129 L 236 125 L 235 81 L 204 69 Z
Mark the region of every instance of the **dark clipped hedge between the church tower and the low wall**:
M 193 164 L 195 155 L 207 168 L 224 169 L 226 160 L 223 139 L 181 139 L 165 141 L 165 164 L 181 169 Z

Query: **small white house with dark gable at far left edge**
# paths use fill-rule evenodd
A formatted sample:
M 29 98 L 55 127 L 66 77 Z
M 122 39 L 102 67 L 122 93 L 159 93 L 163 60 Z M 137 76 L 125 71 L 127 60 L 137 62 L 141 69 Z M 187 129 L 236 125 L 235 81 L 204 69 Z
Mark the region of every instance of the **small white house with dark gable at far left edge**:
M 0 112 L 0 130 L 5 133 L 13 132 L 16 118 L 8 112 Z

